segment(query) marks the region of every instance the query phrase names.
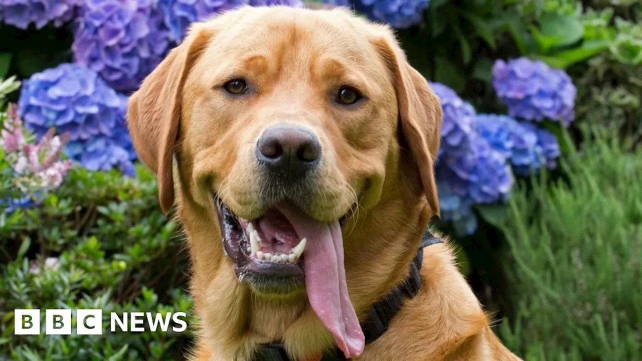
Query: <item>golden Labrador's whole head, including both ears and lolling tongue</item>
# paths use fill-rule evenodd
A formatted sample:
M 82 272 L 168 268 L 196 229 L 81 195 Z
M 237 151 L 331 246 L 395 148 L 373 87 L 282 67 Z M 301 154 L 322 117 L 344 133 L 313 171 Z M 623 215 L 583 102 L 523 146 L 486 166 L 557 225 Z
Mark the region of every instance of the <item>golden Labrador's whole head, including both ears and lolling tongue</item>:
M 195 24 L 128 110 L 160 205 L 168 212 L 177 198 L 191 247 L 258 297 L 306 293 L 352 355 L 363 335 L 344 249 L 345 263 L 374 261 L 359 250 L 381 251 L 390 237 L 373 238 L 386 225 L 372 220 L 398 221 L 402 203 L 438 211 L 441 118 L 388 28 L 286 7 Z

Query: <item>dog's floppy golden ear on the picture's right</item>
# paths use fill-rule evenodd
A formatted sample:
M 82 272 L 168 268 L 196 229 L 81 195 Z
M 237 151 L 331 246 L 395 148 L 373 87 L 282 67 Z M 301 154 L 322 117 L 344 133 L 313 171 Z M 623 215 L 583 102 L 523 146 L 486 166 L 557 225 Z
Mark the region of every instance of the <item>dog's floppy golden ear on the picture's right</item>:
M 372 43 L 392 76 L 402 135 L 419 168 L 428 205 L 433 213 L 439 215 L 434 163 L 441 139 L 443 114 L 440 101 L 426 78 L 408 64 L 392 31 L 383 26 L 377 28 L 380 31 Z

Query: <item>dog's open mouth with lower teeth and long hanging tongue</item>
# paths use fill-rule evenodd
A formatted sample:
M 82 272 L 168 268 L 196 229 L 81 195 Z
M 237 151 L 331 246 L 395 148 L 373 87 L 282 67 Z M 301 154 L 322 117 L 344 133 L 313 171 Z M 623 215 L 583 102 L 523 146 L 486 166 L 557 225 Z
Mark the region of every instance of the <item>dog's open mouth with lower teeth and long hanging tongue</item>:
M 258 292 L 303 290 L 347 358 L 360 355 L 365 339 L 350 301 L 343 264 L 342 223 L 321 222 L 282 202 L 262 216 L 234 215 L 214 197 L 223 248 L 239 280 Z

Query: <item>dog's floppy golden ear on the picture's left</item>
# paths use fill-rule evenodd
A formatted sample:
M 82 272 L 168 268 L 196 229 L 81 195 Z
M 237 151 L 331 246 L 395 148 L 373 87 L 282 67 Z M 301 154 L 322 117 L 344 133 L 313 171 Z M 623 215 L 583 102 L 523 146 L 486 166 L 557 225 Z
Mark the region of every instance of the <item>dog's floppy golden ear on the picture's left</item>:
M 172 158 L 183 85 L 213 35 L 211 27 L 193 26 L 186 39 L 169 51 L 129 98 L 127 123 L 134 148 L 143 163 L 158 175 L 160 208 L 165 214 L 174 204 Z

